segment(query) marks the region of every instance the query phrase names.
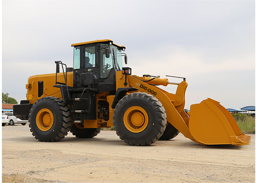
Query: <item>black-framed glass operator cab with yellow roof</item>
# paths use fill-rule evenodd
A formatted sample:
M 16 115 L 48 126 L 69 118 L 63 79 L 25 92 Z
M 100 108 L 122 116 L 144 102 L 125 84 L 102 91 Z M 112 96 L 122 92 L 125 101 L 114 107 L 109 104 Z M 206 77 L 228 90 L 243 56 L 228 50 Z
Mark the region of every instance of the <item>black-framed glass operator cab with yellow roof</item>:
M 72 44 L 73 87 L 94 87 L 98 92 L 116 91 L 116 71 L 122 70 L 126 47 L 110 39 Z

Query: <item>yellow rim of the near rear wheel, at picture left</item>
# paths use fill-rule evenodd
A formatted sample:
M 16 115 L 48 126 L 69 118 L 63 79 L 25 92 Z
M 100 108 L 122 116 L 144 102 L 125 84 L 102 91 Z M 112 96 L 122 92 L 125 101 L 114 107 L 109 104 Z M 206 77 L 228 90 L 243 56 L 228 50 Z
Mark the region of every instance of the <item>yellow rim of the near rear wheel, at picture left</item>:
M 52 128 L 53 121 L 53 114 L 51 110 L 47 108 L 39 110 L 39 112 L 36 115 L 36 125 L 38 126 L 39 130 L 49 130 L 50 128 Z

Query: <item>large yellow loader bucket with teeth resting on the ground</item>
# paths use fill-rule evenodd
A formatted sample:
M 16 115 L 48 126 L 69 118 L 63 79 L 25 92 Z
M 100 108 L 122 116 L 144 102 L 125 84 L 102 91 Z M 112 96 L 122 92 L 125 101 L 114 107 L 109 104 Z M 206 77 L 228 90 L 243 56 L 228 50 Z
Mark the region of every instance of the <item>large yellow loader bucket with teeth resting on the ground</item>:
M 203 145 L 245 145 L 251 141 L 251 136 L 241 132 L 228 110 L 210 98 L 191 105 L 189 131 Z

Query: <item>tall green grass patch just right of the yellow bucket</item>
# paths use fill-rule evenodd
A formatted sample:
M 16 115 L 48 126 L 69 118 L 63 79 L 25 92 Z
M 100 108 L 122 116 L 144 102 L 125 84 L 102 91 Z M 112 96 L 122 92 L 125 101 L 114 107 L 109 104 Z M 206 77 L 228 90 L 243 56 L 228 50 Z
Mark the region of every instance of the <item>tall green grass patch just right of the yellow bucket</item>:
M 236 123 L 243 133 L 255 134 L 255 118 L 240 113 L 234 113 L 232 116 L 235 118 Z

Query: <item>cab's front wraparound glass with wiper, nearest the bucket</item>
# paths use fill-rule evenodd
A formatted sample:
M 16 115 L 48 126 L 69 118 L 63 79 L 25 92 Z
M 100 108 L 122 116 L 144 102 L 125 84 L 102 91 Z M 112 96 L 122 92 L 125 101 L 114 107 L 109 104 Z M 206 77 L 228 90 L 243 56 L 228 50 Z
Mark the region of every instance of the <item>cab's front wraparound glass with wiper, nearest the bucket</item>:
M 110 49 L 109 58 L 105 55 L 105 49 Z M 121 71 L 122 70 L 122 57 L 121 50 L 119 50 L 116 46 L 109 44 L 101 44 L 100 45 L 100 78 L 107 78 L 110 70 L 112 68 Z

